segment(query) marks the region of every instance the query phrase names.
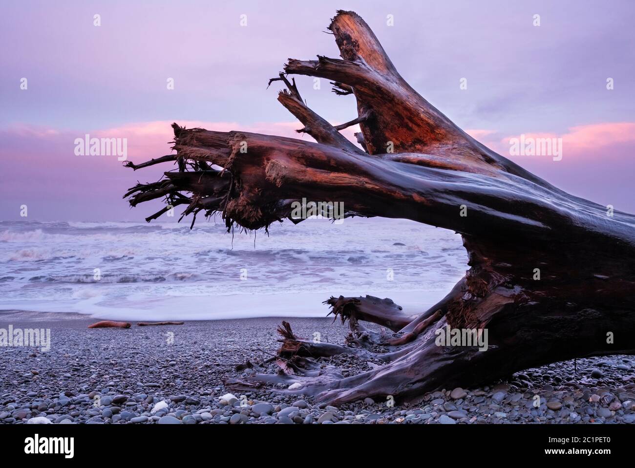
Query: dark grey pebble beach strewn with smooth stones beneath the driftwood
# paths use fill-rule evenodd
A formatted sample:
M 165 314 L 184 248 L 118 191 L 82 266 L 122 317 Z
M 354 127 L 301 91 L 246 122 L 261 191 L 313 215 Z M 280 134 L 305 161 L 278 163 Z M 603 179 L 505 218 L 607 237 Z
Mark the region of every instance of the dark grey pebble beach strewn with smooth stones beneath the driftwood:
M 50 351 L 0 347 L 0 424 L 635 424 L 631 356 L 549 364 L 411 403 L 365 399 L 321 408 L 311 398 L 224 387 L 227 378 L 277 371 L 265 361 L 277 351 L 280 318 L 88 330 L 94 322 L 0 312 L 0 328 L 51 330 Z M 299 336 L 317 331 L 341 344 L 347 328 L 332 322 L 290 320 Z M 253 367 L 236 370 L 247 361 Z M 345 377 L 378 364 L 342 355 L 322 361 L 341 366 Z

